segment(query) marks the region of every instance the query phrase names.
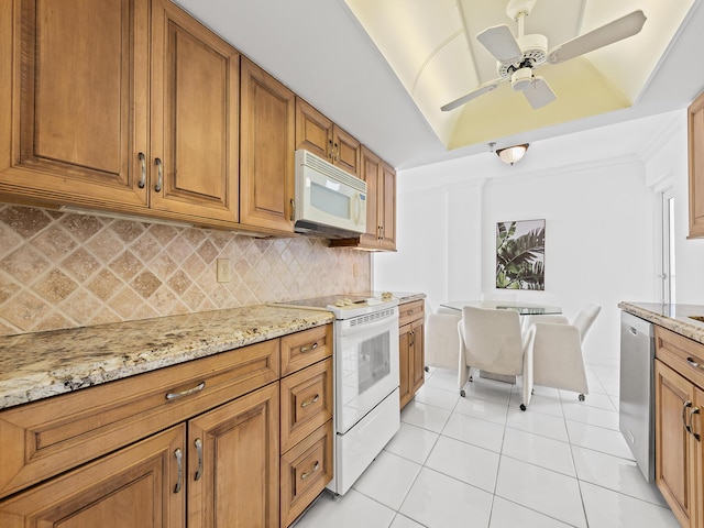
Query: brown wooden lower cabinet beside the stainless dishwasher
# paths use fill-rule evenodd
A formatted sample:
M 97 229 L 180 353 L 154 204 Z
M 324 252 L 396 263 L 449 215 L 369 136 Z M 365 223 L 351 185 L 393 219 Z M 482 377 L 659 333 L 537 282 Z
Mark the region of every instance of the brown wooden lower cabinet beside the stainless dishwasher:
M 704 527 L 704 345 L 656 327 L 656 483 L 682 527 Z

